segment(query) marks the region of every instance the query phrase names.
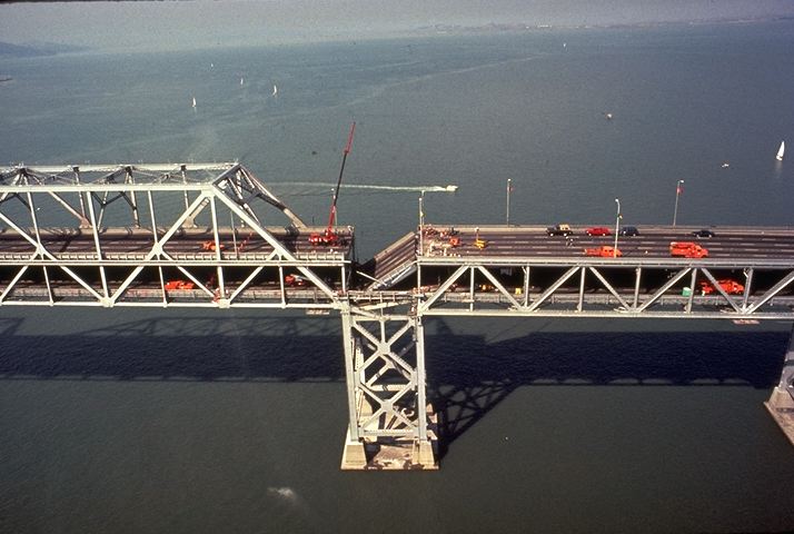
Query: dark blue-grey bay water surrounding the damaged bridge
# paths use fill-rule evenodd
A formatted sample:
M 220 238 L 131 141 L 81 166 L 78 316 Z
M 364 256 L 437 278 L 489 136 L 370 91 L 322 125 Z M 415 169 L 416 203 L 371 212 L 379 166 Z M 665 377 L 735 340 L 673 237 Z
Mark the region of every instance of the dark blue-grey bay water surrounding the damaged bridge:
M 510 179 L 513 224 L 608 225 L 615 198 L 669 224 L 683 179 L 679 224 L 791 226 L 792 49 L 775 21 L 3 58 L 0 165 L 239 160 L 324 224 L 355 120 L 345 182 L 457 185 L 430 222 L 504 224 Z M 360 259 L 417 196 L 343 187 Z M 762 405 L 787 323 L 429 320 L 441 469 L 409 474 L 338 471 L 336 317 L 4 306 L 0 327 L 2 532 L 794 528 Z

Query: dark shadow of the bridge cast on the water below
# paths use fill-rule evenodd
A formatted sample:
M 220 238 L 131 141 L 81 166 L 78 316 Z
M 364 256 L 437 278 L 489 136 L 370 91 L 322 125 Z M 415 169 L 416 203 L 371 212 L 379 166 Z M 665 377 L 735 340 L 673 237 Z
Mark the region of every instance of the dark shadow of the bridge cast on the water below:
M 0 319 L 0 380 L 345 380 L 340 324 L 334 316 L 170 313 L 64 335 L 24 334 L 26 320 L 31 319 Z M 427 323 L 427 395 L 438 414 L 441 455 L 522 386 L 770 389 L 780 379 L 788 343 L 787 330 L 709 332 L 707 327 L 704 332 L 534 329 L 494 342 L 482 332 L 457 334 L 446 319 Z

